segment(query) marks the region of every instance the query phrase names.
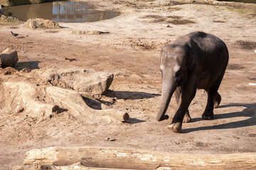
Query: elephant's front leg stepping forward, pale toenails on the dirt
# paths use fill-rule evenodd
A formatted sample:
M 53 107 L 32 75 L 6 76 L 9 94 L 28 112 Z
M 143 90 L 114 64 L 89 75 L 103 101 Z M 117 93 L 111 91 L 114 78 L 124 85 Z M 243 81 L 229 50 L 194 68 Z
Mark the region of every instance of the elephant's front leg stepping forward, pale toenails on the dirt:
M 172 130 L 173 132 L 181 132 L 184 115 L 186 114 L 186 111 L 188 111 L 188 106 L 190 105 L 195 95 L 196 85 L 191 86 L 191 84 L 185 84 L 183 86 L 181 91 L 181 98 L 178 101 L 178 109 L 174 115 L 171 125 L 168 126 L 169 130 Z

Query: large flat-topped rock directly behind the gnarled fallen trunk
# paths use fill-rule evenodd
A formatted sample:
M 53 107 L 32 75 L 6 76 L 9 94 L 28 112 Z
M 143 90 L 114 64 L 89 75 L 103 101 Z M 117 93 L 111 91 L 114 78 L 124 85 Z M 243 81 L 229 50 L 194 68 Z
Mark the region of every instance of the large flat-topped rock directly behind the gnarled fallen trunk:
M 114 79 L 114 74 L 112 73 L 95 72 L 92 69 L 80 69 L 77 67 L 62 69 L 49 66 L 33 70 L 33 72 L 53 86 L 73 89 L 91 95 L 101 95 L 110 88 Z

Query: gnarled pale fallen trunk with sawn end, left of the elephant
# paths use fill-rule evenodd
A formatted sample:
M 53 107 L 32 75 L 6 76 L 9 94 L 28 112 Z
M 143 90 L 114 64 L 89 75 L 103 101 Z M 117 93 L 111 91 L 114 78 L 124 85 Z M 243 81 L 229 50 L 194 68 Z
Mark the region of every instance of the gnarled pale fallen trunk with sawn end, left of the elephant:
M 82 118 L 84 123 L 93 125 L 97 123 L 112 124 L 122 123 L 129 119 L 129 114 L 100 103 L 101 109 L 90 108 L 84 101 L 84 96 L 77 91 L 62 89 L 55 86 L 36 86 L 26 81 L 9 79 L 3 83 L 3 94 L 9 100 L 5 101 L 10 111 L 23 113 L 31 117 L 36 116 L 38 120 L 51 118 L 58 114 L 61 108 L 65 108 L 73 116 Z M 48 98 L 48 102 L 36 100 L 36 91 L 41 91 L 42 96 Z M 85 93 L 83 93 L 85 95 Z M 88 95 L 90 97 L 90 95 Z M 90 99 L 93 100 L 93 99 Z M 82 115 L 82 117 L 81 117 Z

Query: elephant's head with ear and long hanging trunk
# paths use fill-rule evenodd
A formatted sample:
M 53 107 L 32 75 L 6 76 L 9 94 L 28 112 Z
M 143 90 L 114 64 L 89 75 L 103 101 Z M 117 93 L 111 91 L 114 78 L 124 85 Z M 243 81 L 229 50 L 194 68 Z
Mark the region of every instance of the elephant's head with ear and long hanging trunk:
M 177 86 L 188 78 L 194 65 L 193 52 L 188 45 L 166 45 L 161 50 L 160 70 L 162 74 L 162 91 L 159 112 L 156 120 L 167 119 L 166 110 Z

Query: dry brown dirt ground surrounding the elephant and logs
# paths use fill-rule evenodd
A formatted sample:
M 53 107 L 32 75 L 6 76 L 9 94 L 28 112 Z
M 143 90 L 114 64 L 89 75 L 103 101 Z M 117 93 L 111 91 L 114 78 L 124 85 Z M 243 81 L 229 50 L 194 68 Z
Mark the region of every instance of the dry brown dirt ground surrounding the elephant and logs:
M 18 51 L 18 62 L 38 61 L 39 67 L 69 64 L 114 73 L 110 90 L 97 100 L 126 111 L 130 120 L 118 125 L 87 125 L 83 118 L 65 112 L 42 120 L 36 115 L 9 111 L 4 105 L 8 97 L 1 96 L 0 169 L 21 165 L 30 149 L 54 146 L 127 147 L 202 154 L 256 152 L 256 86 L 249 85 L 256 83 L 255 5 L 176 4 L 160 0 L 90 3 L 95 8 L 122 14 L 95 23 L 59 23 L 63 28 L 55 30 L 1 25 L 0 51 L 11 47 Z M 11 30 L 19 33 L 18 38 L 11 36 Z M 78 35 L 73 30 L 110 33 Z M 220 85 L 222 103 L 214 111 L 215 118 L 201 118 L 206 94 L 198 90 L 189 107 L 193 120 L 183 124 L 182 133 L 177 134 L 166 128 L 176 109 L 174 98 L 167 111 L 169 120 L 154 120 L 161 96 L 159 53 L 163 45 L 196 30 L 221 38 L 228 45 L 230 61 Z M 75 61 L 65 60 L 66 57 Z M 0 71 L 0 80 L 14 74 L 14 70 Z M 34 81 L 41 80 L 34 77 Z M 105 140 L 107 137 L 110 140 Z

